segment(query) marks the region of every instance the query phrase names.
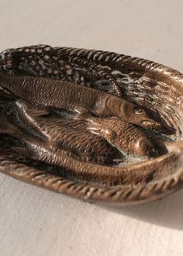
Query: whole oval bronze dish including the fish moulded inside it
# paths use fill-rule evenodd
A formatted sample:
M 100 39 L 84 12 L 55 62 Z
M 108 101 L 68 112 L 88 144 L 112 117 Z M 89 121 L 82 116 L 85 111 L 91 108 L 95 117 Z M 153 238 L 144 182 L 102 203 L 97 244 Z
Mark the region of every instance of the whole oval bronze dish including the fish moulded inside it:
M 101 50 L 0 54 L 0 171 L 79 199 L 133 204 L 183 185 L 183 75 Z

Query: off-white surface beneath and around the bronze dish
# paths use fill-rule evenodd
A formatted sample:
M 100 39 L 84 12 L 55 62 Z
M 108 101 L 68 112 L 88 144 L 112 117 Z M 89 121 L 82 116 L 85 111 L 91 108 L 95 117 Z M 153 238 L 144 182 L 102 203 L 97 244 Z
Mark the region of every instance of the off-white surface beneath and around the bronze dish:
M 0 0 L 0 50 L 110 50 L 183 71 L 182 21 L 181 0 Z M 183 255 L 182 199 L 114 209 L 0 174 L 0 255 Z

